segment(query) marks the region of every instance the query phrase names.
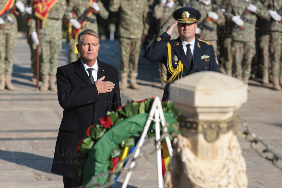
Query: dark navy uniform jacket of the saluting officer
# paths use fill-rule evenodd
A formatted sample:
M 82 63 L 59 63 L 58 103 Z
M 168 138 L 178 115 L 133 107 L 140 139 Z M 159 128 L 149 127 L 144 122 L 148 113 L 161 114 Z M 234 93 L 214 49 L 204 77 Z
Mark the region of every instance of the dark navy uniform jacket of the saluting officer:
M 193 66 L 191 66 L 183 50 L 180 37 L 178 37 L 176 40 L 170 40 L 170 38 L 170 35 L 166 32 L 159 36 L 159 38 L 155 40 L 145 52 L 146 59 L 152 62 L 163 63 L 167 69 L 167 43 L 170 43 L 172 59 L 171 61 L 173 68 L 175 69 L 177 67 L 179 60 L 181 60 L 182 64 L 184 65 L 182 77 L 195 72 L 207 70 L 219 72 L 217 56 L 211 44 L 200 41 L 195 38 L 195 45 L 193 51 Z M 201 59 L 201 57 L 204 55 L 208 55 L 209 58 Z M 167 71 L 166 75 L 168 77 L 171 77 L 172 74 Z M 178 79 L 178 76 L 175 79 Z M 164 90 L 165 92 L 162 101 L 168 99 L 170 93 L 168 85 L 165 86 Z

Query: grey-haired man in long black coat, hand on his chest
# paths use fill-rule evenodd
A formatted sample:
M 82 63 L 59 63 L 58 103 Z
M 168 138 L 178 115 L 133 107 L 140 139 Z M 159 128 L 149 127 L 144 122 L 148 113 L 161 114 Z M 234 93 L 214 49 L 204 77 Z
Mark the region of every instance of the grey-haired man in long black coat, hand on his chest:
M 81 58 L 57 70 L 58 100 L 64 112 L 51 171 L 63 175 L 65 188 L 70 188 L 76 146 L 87 128 L 121 106 L 118 70 L 97 58 L 98 34 L 82 31 L 76 47 Z

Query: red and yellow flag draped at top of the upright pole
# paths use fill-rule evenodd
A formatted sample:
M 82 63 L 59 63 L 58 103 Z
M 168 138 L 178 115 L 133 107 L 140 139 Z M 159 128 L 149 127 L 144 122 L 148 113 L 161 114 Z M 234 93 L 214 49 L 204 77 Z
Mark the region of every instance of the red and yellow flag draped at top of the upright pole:
M 34 0 L 33 9 L 34 14 L 37 18 L 41 20 L 46 20 L 49 14 L 49 10 L 57 3 L 58 0 Z

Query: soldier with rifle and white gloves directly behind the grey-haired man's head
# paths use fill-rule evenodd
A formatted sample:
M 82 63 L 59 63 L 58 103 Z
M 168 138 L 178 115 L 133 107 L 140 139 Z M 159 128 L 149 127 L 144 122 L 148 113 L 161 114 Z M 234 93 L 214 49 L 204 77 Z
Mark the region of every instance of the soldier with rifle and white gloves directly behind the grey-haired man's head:
M 78 36 L 79 33 L 73 35 L 72 31 L 76 29 L 92 29 L 96 33 L 99 33 L 98 31 L 98 24 L 97 24 L 97 18 L 95 13 L 90 13 L 87 17 L 88 20 L 83 19 L 82 23 L 77 21 L 81 16 L 83 16 L 84 13 L 89 8 L 93 8 L 96 13 L 98 13 L 101 18 L 107 19 L 109 17 L 109 12 L 104 8 L 103 3 L 101 1 L 93 1 L 93 0 L 70 0 L 69 4 L 67 6 L 67 11 L 65 13 L 65 18 L 69 20 L 70 24 L 74 26 L 73 28 L 69 29 L 70 37 L 68 37 L 68 45 L 69 45 L 69 63 L 77 61 L 77 59 L 80 57 L 77 49 L 76 49 L 76 40 L 75 37 Z M 71 26 L 70 26 L 71 27 Z

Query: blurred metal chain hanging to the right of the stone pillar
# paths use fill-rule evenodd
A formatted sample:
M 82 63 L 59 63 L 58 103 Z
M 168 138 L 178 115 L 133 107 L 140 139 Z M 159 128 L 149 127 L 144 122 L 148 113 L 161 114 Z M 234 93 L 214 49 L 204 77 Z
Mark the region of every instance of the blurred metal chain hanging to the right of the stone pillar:
M 276 166 L 279 170 L 282 170 L 282 166 L 277 164 L 277 161 L 280 159 L 282 161 L 282 156 L 278 154 L 274 149 L 271 149 L 269 144 L 262 138 L 250 131 L 250 126 L 247 123 L 243 123 L 243 126 L 246 127 L 246 130 L 242 133 L 238 131 L 239 125 L 235 128 L 237 136 L 245 138 L 248 142 L 251 143 L 251 148 L 256 151 L 262 158 L 272 161 L 272 164 Z M 257 145 L 261 143 L 264 145 L 264 149 L 259 149 Z

